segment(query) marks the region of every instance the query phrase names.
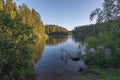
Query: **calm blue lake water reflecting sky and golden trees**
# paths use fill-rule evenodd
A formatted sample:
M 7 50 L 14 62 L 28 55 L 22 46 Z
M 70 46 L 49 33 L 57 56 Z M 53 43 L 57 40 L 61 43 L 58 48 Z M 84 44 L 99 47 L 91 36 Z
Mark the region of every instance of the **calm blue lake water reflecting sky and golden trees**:
M 86 68 L 80 59 L 85 45 L 77 43 L 72 36 L 51 37 L 35 46 L 34 68 L 37 80 L 75 80 Z

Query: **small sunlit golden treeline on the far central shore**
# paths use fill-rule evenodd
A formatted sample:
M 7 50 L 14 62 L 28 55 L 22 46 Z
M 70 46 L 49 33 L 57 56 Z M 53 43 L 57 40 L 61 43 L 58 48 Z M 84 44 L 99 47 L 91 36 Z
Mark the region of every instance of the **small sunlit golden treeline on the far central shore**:
M 48 35 L 67 35 L 68 30 L 58 25 L 45 25 L 45 33 Z

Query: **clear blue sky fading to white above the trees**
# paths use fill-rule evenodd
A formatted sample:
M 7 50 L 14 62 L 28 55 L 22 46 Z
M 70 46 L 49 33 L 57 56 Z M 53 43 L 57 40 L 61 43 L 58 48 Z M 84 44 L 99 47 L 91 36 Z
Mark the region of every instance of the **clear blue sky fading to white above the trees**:
M 92 10 L 102 7 L 103 0 L 16 0 L 39 12 L 44 24 L 56 24 L 68 30 L 95 23 L 89 20 Z

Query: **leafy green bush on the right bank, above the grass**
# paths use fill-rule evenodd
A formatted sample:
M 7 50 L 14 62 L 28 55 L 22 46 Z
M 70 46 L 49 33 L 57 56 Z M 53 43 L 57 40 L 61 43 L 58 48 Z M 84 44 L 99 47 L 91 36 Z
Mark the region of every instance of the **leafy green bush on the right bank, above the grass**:
M 86 61 L 99 67 L 120 67 L 120 29 L 105 31 L 97 37 L 86 38 Z M 94 49 L 93 52 L 90 49 Z M 107 51 L 109 50 L 109 52 Z

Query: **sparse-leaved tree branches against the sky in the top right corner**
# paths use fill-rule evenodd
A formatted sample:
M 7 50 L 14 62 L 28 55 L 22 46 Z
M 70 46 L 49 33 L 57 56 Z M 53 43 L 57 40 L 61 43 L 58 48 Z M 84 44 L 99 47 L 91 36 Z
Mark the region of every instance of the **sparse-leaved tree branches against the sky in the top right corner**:
M 103 9 L 97 8 L 92 11 L 90 19 L 93 20 L 97 16 L 97 22 L 102 23 L 109 20 L 119 19 L 120 0 L 104 0 Z

